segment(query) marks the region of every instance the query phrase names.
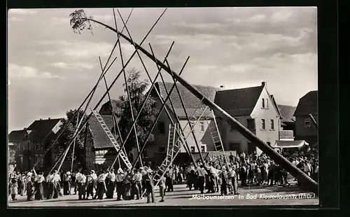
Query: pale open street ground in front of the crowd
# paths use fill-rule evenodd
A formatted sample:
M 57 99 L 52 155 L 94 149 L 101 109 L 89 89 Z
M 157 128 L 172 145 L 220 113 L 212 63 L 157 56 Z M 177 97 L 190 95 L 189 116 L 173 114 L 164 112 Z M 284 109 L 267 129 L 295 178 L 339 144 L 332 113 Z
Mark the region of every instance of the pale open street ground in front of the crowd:
M 69 195 L 60 197 L 59 199 L 28 202 L 25 196 L 19 196 L 18 200 L 9 202 L 9 207 L 235 206 L 318 204 L 318 198 L 314 197 L 314 194 L 299 190 L 296 186 L 289 188 L 251 186 L 246 188 L 239 188 L 239 193 L 241 194 L 240 197 L 235 196 L 235 198 L 208 197 L 202 200 L 196 200 L 192 198 L 195 194 L 198 194 L 198 196 L 200 196 L 197 190 L 190 191 L 188 188 L 186 188 L 186 185 L 176 185 L 174 186 L 174 192 L 167 193 L 165 202 L 159 202 L 159 189 L 157 188 L 155 190 L 155 203 L 153 204 L 147 204 L 145 198 L 143 200 L 130 201 L 116 201 L 116 198 L 80 201 L 78 200 L 78 195 Z M 205 194 L 205 196 L 219 195 L 219 193 Z M 288 198 L 285 198 L 286 195 L 289 195 Z M 247 198 L 248 196 L 251 198 Z M 277 198 L 271 198 L 272 196 Z

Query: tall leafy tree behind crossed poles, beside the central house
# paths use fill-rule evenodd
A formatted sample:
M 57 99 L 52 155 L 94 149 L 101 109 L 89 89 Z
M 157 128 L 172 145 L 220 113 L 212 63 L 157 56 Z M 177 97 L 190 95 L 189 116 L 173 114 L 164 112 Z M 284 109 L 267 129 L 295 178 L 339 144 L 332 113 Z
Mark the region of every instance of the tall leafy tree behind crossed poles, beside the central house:
M 139 145 L 141 146 L 146 141 L 148 132 L 151 131 L 152 125 L 157 116 L 158 110 L 155 107 L 155 101 L 151 98 L 148 98 L 144 108 L 141 110 L 141 106 L 146 99 L 145 92 L 149 85 L 148 80 L 141 80 L 140 71 L 136 69 L 132 69 L 127 71 L 127 85 L 129 87 L 130 99 L 132 102 L 132 111 L 134 113 L 134 118 L 137 117 L 137 114 L 141 112 L 139 118 L 137 119 L 136 128 L 137 128 L 137 139 L 139 140 Z M 125 94 L 119 97 L 120 104 L 120 112 L 116 114 L 118 118 L 118 123 L 120 127 L 120 134 L 122 135 L 122 139 L 127 137 L 127 134 L 132 129 L 132 114 L 130 109 L 129 98 L 127 97 L 127 88 L 126 84 L 123 84 L 125 87 Z M 141 110 L 141 111 L 140 111 Z M 137 146 L 136 135 L 134 134 L 134 130 L 132 130 L 127 143 L 125 144 L 125 151 L 130 153 L 132 148 Z M 153 135 L 151 135 L 150 139 L 147 142 L 153 141 Z M 141 148 L 141 147 L 140 147 Z

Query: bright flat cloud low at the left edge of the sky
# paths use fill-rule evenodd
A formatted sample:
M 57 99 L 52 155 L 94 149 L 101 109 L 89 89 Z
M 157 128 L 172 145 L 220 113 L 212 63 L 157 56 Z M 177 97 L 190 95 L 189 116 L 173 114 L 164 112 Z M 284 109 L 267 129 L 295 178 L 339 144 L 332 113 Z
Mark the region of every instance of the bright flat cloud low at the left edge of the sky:
M 19 66 L 17 64 L 8 64 L 8 77 L 15 78 L 61 78 L 62 76 L 53 75 L 49 72 L 41 72 L 31 66 Z

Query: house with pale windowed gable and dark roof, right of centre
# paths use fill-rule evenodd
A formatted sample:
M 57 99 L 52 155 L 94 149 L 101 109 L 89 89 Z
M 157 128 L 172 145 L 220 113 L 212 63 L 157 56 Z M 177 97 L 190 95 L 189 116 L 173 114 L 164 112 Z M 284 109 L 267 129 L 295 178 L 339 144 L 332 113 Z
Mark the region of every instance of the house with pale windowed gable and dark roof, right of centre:
M 266 83 L 257 87 L 219 91 L 216 104 L 270 146 L 279 140 L 280 113 L 274 105 L 274 99 L 267 92 Z M 221 121 L 220 130 L 225 150 L 238 153 L 256 151 L 258 155 L 262 153 L 255 144 L 225 121 Z

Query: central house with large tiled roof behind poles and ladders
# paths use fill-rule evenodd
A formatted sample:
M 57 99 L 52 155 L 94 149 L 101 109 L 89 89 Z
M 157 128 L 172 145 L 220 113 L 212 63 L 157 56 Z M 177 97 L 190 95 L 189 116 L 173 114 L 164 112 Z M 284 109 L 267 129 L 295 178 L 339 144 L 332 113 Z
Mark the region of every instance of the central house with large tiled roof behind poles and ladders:
M 167 98 L 167 91 L 172 89 L 172 85 L 172 83 L 165 83 L 165 85 L 163 85 L 162 83 L 155 83 L 155 88 L 157 88 L 158 92 L 161 95 L 160 97 L 162 97 L 163 100 Z M 179 98 L 179 94 L 177 94 L 176 92 L 176 89 L 173 90 L 170 96 L 170 100 L 172 103 L 168 100 L 165 109 L 167 109 L 167 111 L 169 112 L 169 115 L 171 116 L 174 123 L 177 123 L 176 116 L 179 118 L 179 129 L 182 129 L 185 132 L 185 137 L 187 137 L 186 141 L 189 146 L 188 148 L 190 148 L 189 151 L 193 153 L 199 152 L 195 144 L 195 139 L 197 139 L 198 146 L 201 152 L 215 151 L 214 143 L 211 139 L 210 131 L 208 128 L 209 123 L 213 121 L 211 112 L 209 111 L 209 109 L 207 109 L 202 118 L 200 118 L 202 112 L 204 111 L 204 106 L 202 106 L 202 102 L 200 102 L 199 99 L 195 98 L 193 94 L 182 85 L 178 85 L 178 87 L 179 92 L 181 93 L 181 97 L 183 98 L 183 104 L 186 107 L 187 116 L 193 124 L 193 133 L 195 134 L 195 137 L 193 137 L 193 134 L 190 132 L 190 125 L 188 124 L 186 113 L 183 110 L 181 100 Z M 208 97 L 211 100 L 214 100 L 216 94 L 215 87 L 204 87 L 200 85 L 195 85 L 195 87 L 197 87 L 198 90 L 203 92 L 206 95 L 206 97 Z M 151 96 L 153 97 L 153 99 L 156 100 L 156 106 L 158 110 L 161 109 L 162 103 L 155 90 L 152 90 Z M 174 109 L 172 109 L 173 106 Z M 169 119 L 169 116 L 167 115 L 167 111 L 165 109 L 162 110 L 160 118 L 158 119 L 158 125 L 153 131 L 154 144 L 153 146 L 148 148 L 148 158 L 154 158 L 155 155 L 165 156 L 167 152 L 169 126 L 172 122 Z M 198 118 L 200 118 L 200 120 L 198 120 Z M 176 140 L 178 140 L 177 137 Z M 185 146 L 181 147 L 180 153 L 186 153 Z

